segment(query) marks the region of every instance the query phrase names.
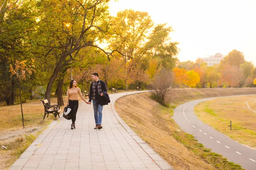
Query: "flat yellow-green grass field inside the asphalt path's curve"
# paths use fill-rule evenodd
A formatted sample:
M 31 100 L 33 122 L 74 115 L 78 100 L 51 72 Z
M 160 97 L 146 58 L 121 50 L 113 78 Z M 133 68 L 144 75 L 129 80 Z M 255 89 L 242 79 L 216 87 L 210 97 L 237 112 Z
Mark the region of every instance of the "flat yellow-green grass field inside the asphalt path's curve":
M 218 98 L 195 106 L 198 119 L 231 139 L 256 149 L 256 96 Z M 256 110 L 255 110 L 256 111 Z M 232 121 L 232 130 L 230 130 Z

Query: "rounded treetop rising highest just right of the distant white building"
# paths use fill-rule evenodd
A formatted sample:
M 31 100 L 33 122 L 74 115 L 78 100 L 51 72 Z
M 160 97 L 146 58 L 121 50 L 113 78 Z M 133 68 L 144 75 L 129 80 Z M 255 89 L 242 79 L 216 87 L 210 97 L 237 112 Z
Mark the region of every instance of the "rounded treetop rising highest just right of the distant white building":
M 228 55 L 224 57 L 224 63 L 231 66 L 239 67 L 239 65 L 243 64 L 244 62 L 244 54 L 237 50 L 230 51 Z

